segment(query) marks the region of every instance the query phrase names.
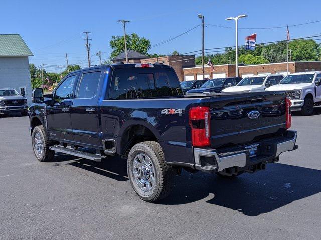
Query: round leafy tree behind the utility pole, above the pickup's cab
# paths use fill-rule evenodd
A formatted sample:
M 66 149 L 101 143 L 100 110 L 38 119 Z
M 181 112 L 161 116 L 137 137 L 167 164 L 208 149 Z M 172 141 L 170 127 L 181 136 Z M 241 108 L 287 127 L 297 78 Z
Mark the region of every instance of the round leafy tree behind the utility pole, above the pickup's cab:
M 150 41 L 144 37 L 139 37 L 137 34 L 132 33 L 126 35 L 127 49 L 132 49 L 141 54 L 147 54 L 151 47 Z M 109 42 L 112 48 L 111 58 L 119 55 L 125 51 L 125 40 L 123 36 L 112 36 Z

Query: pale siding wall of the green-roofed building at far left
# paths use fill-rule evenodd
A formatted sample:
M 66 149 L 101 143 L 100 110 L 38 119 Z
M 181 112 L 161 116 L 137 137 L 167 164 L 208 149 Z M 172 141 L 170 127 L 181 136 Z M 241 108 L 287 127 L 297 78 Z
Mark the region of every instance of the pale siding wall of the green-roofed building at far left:
M 28 105 L 31 105 L 31 81 L 28 57 L 0 56 L 0 88 L 11 87 L 20 93 L 26 87 Z

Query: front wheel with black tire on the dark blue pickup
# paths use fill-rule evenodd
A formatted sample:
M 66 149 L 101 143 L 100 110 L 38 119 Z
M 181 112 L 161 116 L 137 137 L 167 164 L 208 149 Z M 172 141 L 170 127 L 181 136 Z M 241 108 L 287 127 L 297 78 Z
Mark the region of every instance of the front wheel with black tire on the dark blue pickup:
M 37 145 L 37 140 L 38 142 L 41 141 L 39 145 Z M 37 146 L 40 147 L 41 144 L 42 144 L 42 151 L 40 152 L 39 150 L 37 150 Z M 34 150 L 35 156 L 38 161 L 46 162 L 54 159 L 55 151 L 52 151 L 49 149 L 50 145 L 51 145 L 51 142 L 50 140 L 48 140 L 44 127 L 36 126 L 32 132 L 32 148 Z

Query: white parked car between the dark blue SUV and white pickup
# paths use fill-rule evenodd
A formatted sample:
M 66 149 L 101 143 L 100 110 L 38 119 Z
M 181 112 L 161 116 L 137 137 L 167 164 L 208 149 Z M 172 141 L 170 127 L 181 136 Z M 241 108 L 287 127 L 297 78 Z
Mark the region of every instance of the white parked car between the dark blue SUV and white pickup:
M 270 74 L 267 76 L 249 76 L 241 80 L 236 86 L 224 89 L 222 92 L 260 92 L 270 86 L 278 84 L 284 76 L 282 74 Z

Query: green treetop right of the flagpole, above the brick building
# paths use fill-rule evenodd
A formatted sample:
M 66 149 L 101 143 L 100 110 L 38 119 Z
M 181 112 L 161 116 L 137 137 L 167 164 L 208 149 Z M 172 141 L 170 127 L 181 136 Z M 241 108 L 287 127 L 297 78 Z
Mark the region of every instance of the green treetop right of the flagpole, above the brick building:
M 289 49 L 292 50 L 292 61 L 317 61 L 320 59 L 320 48 L 312 39 L 290 41 Z

